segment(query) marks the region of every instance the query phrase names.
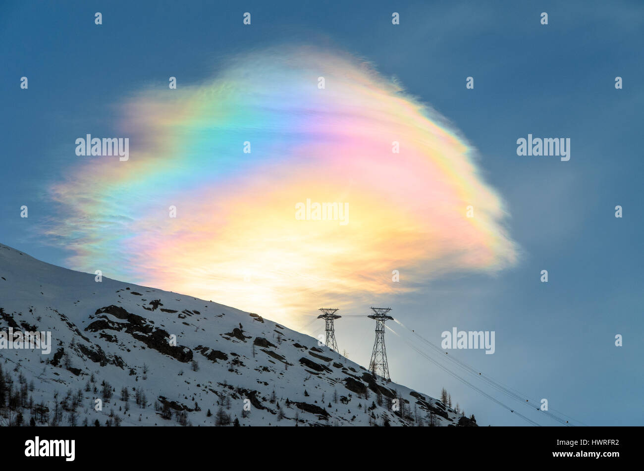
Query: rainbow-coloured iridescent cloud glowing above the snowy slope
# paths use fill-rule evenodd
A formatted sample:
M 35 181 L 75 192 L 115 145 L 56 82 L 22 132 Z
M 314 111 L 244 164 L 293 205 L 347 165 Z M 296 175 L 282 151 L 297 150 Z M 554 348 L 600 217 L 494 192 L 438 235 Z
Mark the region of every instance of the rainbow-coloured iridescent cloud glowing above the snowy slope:
M 127 162 L 75 157 L 52 187 L 72 268 L 284 321 L 515 263 L 471 147 L 368 63 L 264 50 L 203 84 L 178 78 L 124 104 Z M 348 223 L 297 219 L 307 199 L 346 203 Z

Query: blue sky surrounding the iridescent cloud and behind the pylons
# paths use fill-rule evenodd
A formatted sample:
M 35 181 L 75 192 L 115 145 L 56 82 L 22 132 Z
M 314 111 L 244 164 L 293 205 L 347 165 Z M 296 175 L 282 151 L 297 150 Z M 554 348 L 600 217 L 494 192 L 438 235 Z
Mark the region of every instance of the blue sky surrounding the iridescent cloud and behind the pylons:
M 66 169 L 61 149 L 79 125 L 109 129 L 124 96 L 169 75 L 199 82 L 222 57 L 261 44 L 332 45 L 397 77 L 477 147 L 522 248 L 520 262 L 495 277 L 446 277 L 393 297 L 392 314 L 436 344 L 453 326 L 494 330 L 495 355 L 459 351 L 459 358 L 587 425 L 643 425 L 644 5 L 345 4 L 3 3 L 0 241 L 65 265 L 71 254 L 26 225 L 19 208 L 28 205 L 30 219 L 55 217 L 44 190 Z M 244 29 L 246 11 L 252 27 Z M 95 12 L 103 14 L 100 28 Z M 395 28 L 392 12 L 401 17 Z M 23 75 L 28 93 L 19 88 Z M 571 160 L 517 156 L 516 140 L 528 133 L 570 138 Z M 614 346 L 616 334 L 623 347 Z M 372 335 L 364 320 L 337 323 L 340 349 L 361 364 Z M 396 382 L 434 396 L 446 387 L 480 425 L 525 424 L 394 336 L 387 346 Z

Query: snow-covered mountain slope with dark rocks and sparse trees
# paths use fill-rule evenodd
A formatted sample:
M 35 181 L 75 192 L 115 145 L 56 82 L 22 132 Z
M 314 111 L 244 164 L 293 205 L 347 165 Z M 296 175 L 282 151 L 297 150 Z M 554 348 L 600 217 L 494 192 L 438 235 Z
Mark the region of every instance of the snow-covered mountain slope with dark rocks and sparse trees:
M 9 328 L 51 331 L 52 351 L 0 349 L 3 425 L 475 425 L 260 315 L 0 245 Z

